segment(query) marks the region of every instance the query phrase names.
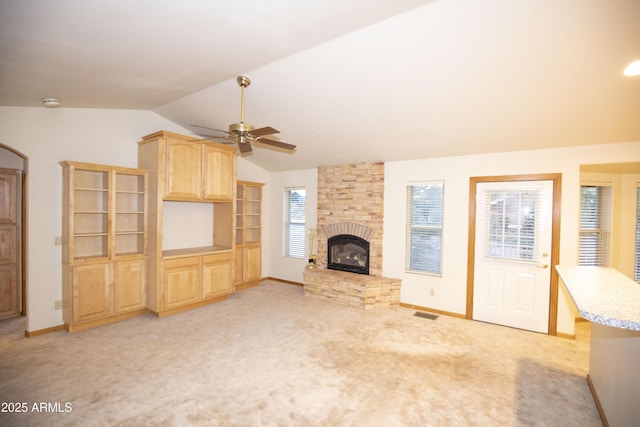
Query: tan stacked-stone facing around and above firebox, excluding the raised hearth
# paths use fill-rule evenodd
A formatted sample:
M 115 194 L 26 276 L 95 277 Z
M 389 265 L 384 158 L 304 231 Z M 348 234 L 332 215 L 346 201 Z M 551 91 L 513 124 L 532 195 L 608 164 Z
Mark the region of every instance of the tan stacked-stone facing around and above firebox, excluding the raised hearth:
M 318 267 L 327 267 L 327 235 L 323 228 L 352 223 L 371 229 L 369 274 L 382 276 L 383 220 L 384 163 L 318 168 Z

